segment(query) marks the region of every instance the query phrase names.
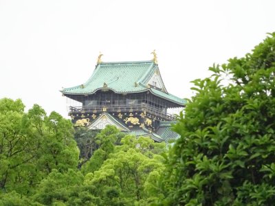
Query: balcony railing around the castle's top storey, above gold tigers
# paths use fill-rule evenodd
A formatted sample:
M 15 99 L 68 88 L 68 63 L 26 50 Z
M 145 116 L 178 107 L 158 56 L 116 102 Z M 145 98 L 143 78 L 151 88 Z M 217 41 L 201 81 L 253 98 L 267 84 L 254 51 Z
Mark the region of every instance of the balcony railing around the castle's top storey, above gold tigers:
M 165 109 L 165 108 L 164 108 Z M 175 119 L 174 115 L 162 111 L 162 108 L 157 108 L 149 104 L 109 104 L 109 105 L 98 105 L 98 106 L 69 106 L 69 113 L 71 115 L 77 113 L 99 113 L 101 111 L 108 111 L 109 113 L 118 112 L 140 112 L 145 111 L 151 113 L 157 117 L 161 117 L 166 120 Z

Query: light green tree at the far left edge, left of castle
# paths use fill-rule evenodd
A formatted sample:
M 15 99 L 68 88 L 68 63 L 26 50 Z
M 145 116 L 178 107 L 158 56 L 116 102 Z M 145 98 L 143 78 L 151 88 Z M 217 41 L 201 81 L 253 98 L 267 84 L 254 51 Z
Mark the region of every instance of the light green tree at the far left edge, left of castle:
M 0 193 L 30 195 L 53 169 L 78 165 L 72 123 L 34 105 L 24 113 L 21 100 L 0 100 Z

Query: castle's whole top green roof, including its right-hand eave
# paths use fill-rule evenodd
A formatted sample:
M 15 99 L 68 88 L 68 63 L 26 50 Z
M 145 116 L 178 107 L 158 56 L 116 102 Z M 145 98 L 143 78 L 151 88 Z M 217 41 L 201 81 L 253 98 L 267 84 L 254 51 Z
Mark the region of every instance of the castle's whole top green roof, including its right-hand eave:
M 159 77 L 161 91 L 148 87 L 148 83 L 154 74 Z M 153 62 L 101 62 L 85 84 L 76 87 L 65 88 L 61 92 L 67 95 L 89 95 L 100 89 L 110 89 L 115 93 L 139 93 L 150 91 L 154 95 L 170 100 L 184 106 L 186 100 L 177 98 L 166 91 L 159 73 L 159 68 Z

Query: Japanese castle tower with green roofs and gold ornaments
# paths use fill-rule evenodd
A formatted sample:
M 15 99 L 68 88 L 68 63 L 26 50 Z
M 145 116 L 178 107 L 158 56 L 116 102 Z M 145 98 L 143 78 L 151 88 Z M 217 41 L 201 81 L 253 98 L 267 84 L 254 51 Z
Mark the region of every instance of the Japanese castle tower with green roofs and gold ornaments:
M 98 63 L 87 82 L 61 92 L 69 99 L 74 126 L 101 130 L 108 124 L 124 133 L 154 141 L 177 139 L 170 130 L 175 116 L 168 108 L 184 108 L 186 100 L 168 93 L 153 60 Z

